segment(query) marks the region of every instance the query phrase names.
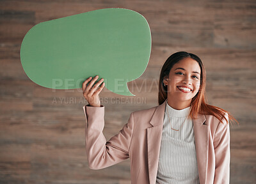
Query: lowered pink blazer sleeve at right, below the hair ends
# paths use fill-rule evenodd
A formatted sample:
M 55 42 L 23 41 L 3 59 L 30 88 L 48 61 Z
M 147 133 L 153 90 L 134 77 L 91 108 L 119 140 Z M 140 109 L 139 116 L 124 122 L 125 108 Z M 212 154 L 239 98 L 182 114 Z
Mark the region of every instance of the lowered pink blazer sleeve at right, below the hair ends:
M 228 120 L 228 114 L 225 113 Z M 225 121 L 224 121 L 225 122 Z M 229 184 L 230 179 L 230 131 L 229 124 L 219 123 L 214 136 L 215 174 L 214 184 Z

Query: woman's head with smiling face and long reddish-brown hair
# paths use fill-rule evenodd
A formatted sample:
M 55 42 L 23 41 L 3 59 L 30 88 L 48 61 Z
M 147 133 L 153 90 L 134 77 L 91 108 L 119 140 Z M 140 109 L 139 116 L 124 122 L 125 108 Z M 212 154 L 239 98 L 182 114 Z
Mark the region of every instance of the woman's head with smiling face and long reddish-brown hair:
M 198 113 L 212 115 L 221 123 L 228 122 L 227 111 L 211 106 L 205 99 L 206 72 L 202 60 L 193 53 L 173 53 L 164 63 L 159 78 L 159 104 L 168 99 L 168 104 L 177 110 L 191 106 L 189 117 Z M 228 115 L 232 122 L 234 117 Z

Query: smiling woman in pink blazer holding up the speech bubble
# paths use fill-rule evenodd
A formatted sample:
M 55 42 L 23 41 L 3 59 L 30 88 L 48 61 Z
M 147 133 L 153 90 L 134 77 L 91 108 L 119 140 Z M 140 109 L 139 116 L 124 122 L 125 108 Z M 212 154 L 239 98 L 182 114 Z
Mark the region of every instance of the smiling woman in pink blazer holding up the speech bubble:
M 83 83 L 86 153 L 91 169 L 130 158 L 131 183 L 229 183 L 230 132 L 227 111 L 205 103 L 202 60 L 188 52 L 173 53 L 159 78 L 159 106 L 134 111 L 123 129 L 106 142 L 103 80 Z M 89 83 L 90 81 L 90 83 Z M 100 86 L 100 83 L 102 85 Z M 98 88 L 99 87 L 99 88 Z

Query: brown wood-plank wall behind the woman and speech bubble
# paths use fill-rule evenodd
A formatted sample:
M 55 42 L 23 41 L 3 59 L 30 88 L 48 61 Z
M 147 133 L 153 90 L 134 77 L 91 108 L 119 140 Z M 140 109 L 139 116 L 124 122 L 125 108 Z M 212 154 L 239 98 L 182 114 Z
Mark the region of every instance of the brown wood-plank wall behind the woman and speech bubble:
M 157 105 L 164 61 L 185 50 L 207 70 L 207 97 L 240 125 L 230 127 L 230 183 L 256 183 L 256 1 L 254 0 L 2 0 L 0 1 L 0 183 L 130 183 L 129 160 L 88 168 L 81 90 L 44 88 L 29 80 L 19 50 L 34 25 L 102 8 L 127 8 L 147 18 L 152 31 L 148 67 L 129 82 L 135 97 L 100 94 L 106 139 L 132 111 Z

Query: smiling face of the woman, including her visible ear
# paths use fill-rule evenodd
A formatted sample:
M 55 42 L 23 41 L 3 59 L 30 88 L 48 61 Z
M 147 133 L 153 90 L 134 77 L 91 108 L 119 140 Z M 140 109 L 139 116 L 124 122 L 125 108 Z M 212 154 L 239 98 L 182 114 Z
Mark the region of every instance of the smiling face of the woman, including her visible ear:
M 200 88 L 201 69 L 196 60 L 186 57 L 173 65 L 169 78 L 164 78 L 168 88 L 168 99 L 190 101 Z

